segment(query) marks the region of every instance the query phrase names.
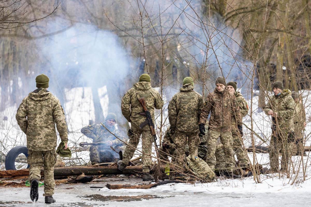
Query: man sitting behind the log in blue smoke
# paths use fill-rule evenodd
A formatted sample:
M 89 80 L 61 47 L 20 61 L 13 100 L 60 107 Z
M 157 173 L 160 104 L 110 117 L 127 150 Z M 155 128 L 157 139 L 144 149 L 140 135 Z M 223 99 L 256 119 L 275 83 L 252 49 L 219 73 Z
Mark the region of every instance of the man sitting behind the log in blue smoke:
M 81 133 L 83 133 L 86 137 L 91 138 L 93 142 L 105 143 L 104 145 L 90 147 L 90 160 L 93 165 L 105 162 L 115 162 L 118 160 L 119 154 L 116 151 L 122 150 L 121 146 L 124 143 L 124 139 L 115 125 L 116 121 L 117 115 L 114 113 L 108 113 L 105 119 L 105 126 L 119 139 L 111 134 L 101 124 L 91 124 L 81 129 Z M 112 146 L 115 150 L 111 149 L 110 146 Z

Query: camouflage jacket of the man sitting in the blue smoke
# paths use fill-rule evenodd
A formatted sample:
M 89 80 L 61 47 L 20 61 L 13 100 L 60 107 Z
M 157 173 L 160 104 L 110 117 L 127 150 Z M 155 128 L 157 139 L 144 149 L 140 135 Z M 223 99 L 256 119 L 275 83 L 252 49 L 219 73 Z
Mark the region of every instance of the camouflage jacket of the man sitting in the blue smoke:
M 108 127 L 107 127 L 108 128 Z M 114 133 L 118 138 L 124 141 L 124 138 L 118 128 L 113 126 L 109 129 L 110 132 Z M 91 124 L 87 127 L 81 128 L 81 133 L 86 137 L 89 137 L 93 140 L 93 142 L 106 142 L 111 141 L 114 146 L 123 145 L 124 142 L 116 138 L 113 134 L 111 134 L 107 129 L 103 127 L 101 124 Z

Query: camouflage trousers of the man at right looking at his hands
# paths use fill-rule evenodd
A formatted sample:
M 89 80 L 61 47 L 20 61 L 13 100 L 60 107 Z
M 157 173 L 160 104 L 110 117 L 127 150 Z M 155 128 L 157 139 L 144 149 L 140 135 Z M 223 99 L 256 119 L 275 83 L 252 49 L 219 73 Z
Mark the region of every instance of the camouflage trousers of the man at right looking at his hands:
M 289 142 L 287 135 L 285 138 L 280 135 L 271 135 L 269 145 L 270 168 L 272 171 L 279 171 L 279 153 L 281 152 L 281 170 L 289 169 L 291 152 L 294 142 Z

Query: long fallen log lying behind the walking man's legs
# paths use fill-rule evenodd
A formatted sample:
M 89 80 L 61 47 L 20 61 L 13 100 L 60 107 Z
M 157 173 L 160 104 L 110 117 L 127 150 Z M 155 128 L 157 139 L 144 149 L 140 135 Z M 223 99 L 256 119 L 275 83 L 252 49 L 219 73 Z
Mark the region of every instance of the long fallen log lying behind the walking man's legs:
M 161 166 L 160 169 L 163 170 L 164 168 L 165 166 Z M 153 171 L 154 169 L 151 169 L 151 173 L 153 173 Z M 85 175 L 134 174 L 142 173 L 142 166 L 128 166 L 123 172 L 119 171 L 117 166 L 73 166 L 54 168 L 54 177 L 80 175 L 81 173 Z M 0 178 L 16 178 L 27 175 L 29 175 L 28 169 L 0 171 Z M 41 175 L 44 175 L 43 169 L 41 169 Z

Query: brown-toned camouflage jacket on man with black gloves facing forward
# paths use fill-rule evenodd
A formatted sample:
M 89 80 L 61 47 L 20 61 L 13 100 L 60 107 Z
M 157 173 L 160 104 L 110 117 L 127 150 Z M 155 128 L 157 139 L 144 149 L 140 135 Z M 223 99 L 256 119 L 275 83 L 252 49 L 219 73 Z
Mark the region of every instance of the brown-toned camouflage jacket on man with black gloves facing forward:
M 206 106 L 202 109 L 199 124 L 206 123 L 209 113 L 211 118 L 208 128 L 218 132 L 229 132 L 231 130 L 231 117 L 234 115 L 241 123 L 240 109 L 236 104 L 235 96 L 230 96 L 227 90 L 219 92 L 216 88 L 214 92 L 208 94 Z

